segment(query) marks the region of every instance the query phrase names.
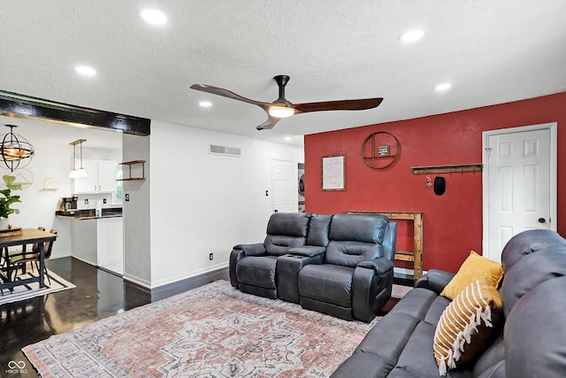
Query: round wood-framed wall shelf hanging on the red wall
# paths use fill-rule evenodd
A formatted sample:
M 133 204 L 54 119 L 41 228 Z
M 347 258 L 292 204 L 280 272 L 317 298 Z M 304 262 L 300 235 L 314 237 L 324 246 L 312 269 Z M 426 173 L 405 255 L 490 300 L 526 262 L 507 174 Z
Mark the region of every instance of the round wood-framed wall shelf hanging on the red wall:
M 369 135 L 362 143 L 362 158 L 374 169 L 391 166 L 401 153 L 401 143 L 392 134 L 378 131 Z

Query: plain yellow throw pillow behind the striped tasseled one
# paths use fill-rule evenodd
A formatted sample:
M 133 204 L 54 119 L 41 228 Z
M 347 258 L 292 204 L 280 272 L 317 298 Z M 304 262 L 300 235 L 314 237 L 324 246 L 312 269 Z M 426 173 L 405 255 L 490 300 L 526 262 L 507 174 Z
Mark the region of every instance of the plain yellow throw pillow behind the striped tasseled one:
M 475 251 L 470 251 L 470 256 L 466 258 L 460 269 L 458 269 L 458 273 L 456 273 L 452 281 L 448 282 L 440 295 L 448 299 L 454 299 L 466 286 L 470 285 L 471 282 L 477 281 L 480 277 L 485 277 L 487 282 L 491 283 L 494 288 L 497 288 L 502 276 L 503 267 L 500 263 L 479 256 Z

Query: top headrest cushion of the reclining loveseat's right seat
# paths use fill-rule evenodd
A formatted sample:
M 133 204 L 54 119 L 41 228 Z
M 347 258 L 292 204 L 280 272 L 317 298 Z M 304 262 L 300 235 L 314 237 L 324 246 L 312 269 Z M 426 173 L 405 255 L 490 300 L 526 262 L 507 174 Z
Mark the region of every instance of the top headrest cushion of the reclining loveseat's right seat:
M 336 214 L 330 224 L 330 240 L 383 243 L 387 217 L 376 214 Z

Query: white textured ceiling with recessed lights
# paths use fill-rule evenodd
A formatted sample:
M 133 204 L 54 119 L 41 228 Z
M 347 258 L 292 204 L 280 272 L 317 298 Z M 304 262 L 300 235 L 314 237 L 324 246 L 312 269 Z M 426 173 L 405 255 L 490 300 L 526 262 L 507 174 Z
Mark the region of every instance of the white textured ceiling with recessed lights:
M 150 5 L 168 22 L 139 17 Z M 0 0 L 0 89 L 282 142 L 300 135 L 566 90 L 564 0 Z M 402 32 L 424 30 L 419 42 Z M 74 66 L 93 66 L 81 77 Z M 288 74 L 294 103 L 382 96 L 378 108 L 316 112 L 257 131 L 251 104 Z M 435 92 L 440 82 L 452 89 Z M 201 108 L 207 99 L 213 105 Z

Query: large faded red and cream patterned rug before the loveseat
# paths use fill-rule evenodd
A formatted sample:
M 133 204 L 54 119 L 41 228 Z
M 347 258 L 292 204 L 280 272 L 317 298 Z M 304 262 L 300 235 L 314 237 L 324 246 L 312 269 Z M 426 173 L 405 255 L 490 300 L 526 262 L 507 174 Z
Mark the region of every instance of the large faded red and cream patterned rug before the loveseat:
M 42 377 L 327 377 L 371 324 L 212 282 L 23 349 Z

